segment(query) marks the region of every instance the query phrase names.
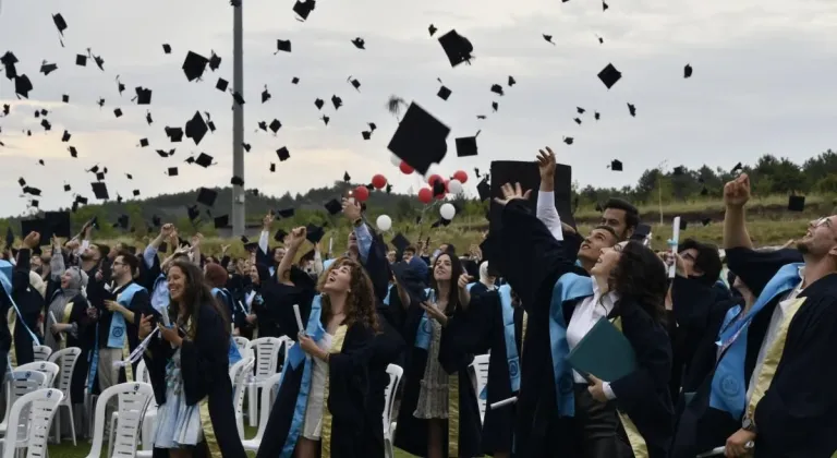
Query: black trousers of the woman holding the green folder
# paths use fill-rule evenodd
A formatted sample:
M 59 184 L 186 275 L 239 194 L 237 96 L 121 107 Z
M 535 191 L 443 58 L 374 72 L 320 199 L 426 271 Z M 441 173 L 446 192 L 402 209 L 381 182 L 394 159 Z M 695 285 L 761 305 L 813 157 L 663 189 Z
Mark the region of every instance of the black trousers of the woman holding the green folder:
M 587 385 L 575 385 L 575 437 L 584 458 L 633 458 L 616 402 L 593 399 Z

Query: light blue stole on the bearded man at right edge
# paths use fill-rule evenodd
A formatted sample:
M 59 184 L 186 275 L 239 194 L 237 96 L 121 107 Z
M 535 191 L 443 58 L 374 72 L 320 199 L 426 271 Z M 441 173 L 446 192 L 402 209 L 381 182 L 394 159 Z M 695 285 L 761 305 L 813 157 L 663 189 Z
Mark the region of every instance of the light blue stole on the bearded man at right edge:
M 747 381 L 744 379 L 744 360 L 747 359 L 747 336 L 750 323 L 755 315 L 776 297 L 787 293 L 799 285 L 799 268 L 802 263 L 783 266 L 759 294 L 753 308 L 741 320 L 732 322 L 741 312 L 740 306 L 730 309 L 724 317 L 718 341 L 719 361 L 712 376 L 709 406 L 728 412 L 736 420 L 740 419 L 747 405 Z

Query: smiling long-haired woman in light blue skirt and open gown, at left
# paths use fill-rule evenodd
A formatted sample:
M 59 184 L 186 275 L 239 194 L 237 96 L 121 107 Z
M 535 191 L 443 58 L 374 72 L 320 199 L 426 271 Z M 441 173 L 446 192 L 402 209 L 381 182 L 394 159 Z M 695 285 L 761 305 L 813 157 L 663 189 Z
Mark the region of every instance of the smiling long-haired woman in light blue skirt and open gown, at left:
M 146 338 L 157 322 L 162 337 L 151 337 L 144 354 L 159 405 L 155 457 L 244 458 L 235 429 L 229 376 L 230 326 L 226 312 L 191 262 L 169 268 L 172 327 L 142 315 L 138 336 Z

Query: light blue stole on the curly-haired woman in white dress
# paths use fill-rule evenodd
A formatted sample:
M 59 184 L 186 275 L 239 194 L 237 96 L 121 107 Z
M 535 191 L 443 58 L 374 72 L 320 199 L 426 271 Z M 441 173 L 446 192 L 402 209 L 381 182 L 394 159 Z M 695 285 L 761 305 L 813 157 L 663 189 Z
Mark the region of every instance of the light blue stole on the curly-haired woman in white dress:
M 305 334 L 308 335 L 315 342 L 323 339 L 326 334 L 326 329 L 323 328 L 323 324 L 319 323 L 319 318 L 323 314 L 323 298 L 317 294 L 311 302 L 311 315 L 308 315 L 308 322 L 305 327 Z M 296 441 L 302 433 L 302 425 L 305 422 L 305 408 L 308 405 L 308 394 L 311 391 L 311 371 L 313 364 L 311 364 L 311 355 L 306 354 L 302 350 L 299 342 L 295 342 L 288 351 L 288 358 L 284 360 L 282 366 L 282 374 L 287 374 L 288 367 L 296 369 L 302 362 L 305 362 L 305 366 L 302 371 L 302 381 L 300 382 L 300 393 L 296 395 L 296 405 L 293 408 L 293 419 L 291 420 L 291 429 L 288 431 L 288 438 L 284 441 L 282 453 L 280 458 L 291 458 L 293 456 L 293 449 L 296 447 Z M 279 385 L 284 382 L 284 376 L 279 381 Z

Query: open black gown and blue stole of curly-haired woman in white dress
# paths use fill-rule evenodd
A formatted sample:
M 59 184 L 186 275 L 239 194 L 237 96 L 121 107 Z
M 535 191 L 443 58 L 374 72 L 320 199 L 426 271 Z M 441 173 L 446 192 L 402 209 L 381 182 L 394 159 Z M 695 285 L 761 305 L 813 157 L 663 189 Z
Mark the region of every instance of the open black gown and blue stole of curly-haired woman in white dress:
M 306 323 L 306 334 L 315 341 L 323 337 L 320 298 L 300 304 L 300 314 Z M 293 316 L 293 310 L 290 316 Z M 299 335 L 295 318 L 288 314 L 277 316 L 289 336 Z M 326 397 L 323 409 L 320 436 L 322 458 L 356 458 L 369 455 L 364 439 L 365 408 L 368 397 L 369 343 L 374 332 L 361 323 L 341 325 L 331 345 L 326 377 Z M 279 393 L 270 409 L 265 436 L 258 448 L 258 458 L 291 458 L 305 422 L 308 391 L 312 381 L 312 359 L 299 347 L 291 348 L 282 369 Z M 380 427 L 380 417 L 376 425 Z M 233 429 L 234 431 L 234 429 Z

